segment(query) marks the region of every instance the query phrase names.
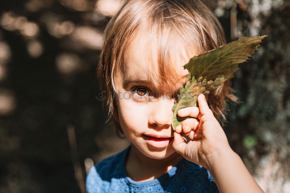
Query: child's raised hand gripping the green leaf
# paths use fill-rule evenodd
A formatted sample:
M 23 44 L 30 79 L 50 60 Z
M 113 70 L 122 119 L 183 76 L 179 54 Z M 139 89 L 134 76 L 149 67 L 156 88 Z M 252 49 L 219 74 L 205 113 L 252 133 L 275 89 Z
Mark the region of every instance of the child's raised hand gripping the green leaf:
M 209 169 L 212 154 L 229 151 L 231 148 L 222 127 L 209 109 L 205 96 L 200 94 L 197 102 L 199 107 L 186 107 L 177 112 L 180 117 L 196 118 L 186 119 L 175 128 L 172 146 L 185 159 Z M 184 133 L 191 141 L 186 144 L 178 133 Z

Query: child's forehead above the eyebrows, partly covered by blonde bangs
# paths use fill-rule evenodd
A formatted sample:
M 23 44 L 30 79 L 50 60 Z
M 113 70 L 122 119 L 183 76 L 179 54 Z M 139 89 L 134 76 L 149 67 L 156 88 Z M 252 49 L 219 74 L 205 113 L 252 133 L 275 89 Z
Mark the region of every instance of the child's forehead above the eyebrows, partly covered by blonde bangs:
M 170 38 L 139 35 L 126 47 L 123 80 L 146 80 L 154 87 L 180 88 L 188 75 L 183 66 L 194 55 Z

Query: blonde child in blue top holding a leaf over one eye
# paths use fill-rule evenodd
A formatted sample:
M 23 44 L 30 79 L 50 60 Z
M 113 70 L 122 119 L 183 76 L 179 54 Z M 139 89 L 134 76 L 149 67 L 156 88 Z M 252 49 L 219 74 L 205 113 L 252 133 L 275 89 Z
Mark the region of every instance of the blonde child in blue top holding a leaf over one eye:
M 172 129 L 173 103 L 189 59 L 225 44 L 222 27 L 200 0 L 128 0 L 105 30 L 98 67 L 117 130 L 131 145 L 93 167 L 88 192 L 263 192 L 231 150 L 219 120 L 229 81 Z M 187 137 L 184 142 L 180 133 Z

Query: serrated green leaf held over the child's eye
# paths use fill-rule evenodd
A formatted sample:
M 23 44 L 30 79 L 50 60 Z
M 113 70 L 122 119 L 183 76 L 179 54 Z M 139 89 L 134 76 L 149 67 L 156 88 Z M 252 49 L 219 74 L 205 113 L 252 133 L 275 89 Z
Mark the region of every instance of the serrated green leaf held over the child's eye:
M 266 36 L 256 38 L 242 37 L 237 41 L 217 47 L 209 52 L 194 56 L 189 63 L 184 65 L 188 69 L 190 83 L 179 89 L 178 103 L 174 102 L 172 127 L 180 125 L 189 117 L 179 117 L 177 111 L 189 106 L 197 106 L 197 96 L 209 94 L 217 89 L 226 80 L 233 78 L 238 64 L 249 59 L 260 46 L 262 39 Z

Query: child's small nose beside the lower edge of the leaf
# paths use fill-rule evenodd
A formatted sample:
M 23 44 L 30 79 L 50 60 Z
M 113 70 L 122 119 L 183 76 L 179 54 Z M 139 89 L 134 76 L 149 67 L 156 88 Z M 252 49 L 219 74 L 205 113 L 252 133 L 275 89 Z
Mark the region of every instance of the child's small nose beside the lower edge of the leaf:
M 159 127 L 169 126 L 172 123 L 173 111 L 172 107 L 174 99 L 158 99 L 150 105 L 150 115 L 148 122 L 151 125 L 158 125 Z

